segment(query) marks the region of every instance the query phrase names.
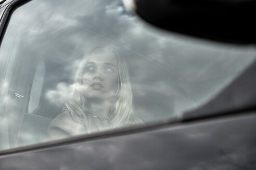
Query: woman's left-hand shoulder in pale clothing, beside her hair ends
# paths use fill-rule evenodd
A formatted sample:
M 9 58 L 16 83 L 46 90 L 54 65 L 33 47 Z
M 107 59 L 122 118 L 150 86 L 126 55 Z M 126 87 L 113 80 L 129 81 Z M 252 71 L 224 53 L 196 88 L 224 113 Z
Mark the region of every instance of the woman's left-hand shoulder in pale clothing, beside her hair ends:
M 48 126 L 48 134 L 52 138 L 68 137 L 86 132 L 86 126 L 76 123 L 69 111 L 59 114 Z

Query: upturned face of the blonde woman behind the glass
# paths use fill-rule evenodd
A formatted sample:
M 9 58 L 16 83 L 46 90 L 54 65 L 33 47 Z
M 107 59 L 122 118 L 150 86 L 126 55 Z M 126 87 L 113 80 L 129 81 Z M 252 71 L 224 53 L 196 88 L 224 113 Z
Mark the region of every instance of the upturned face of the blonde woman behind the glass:
M 82 75 L 84 93 L 88 100 L 110 100 L 118 90 L 118 61 L 113 51 L 95 49 Z

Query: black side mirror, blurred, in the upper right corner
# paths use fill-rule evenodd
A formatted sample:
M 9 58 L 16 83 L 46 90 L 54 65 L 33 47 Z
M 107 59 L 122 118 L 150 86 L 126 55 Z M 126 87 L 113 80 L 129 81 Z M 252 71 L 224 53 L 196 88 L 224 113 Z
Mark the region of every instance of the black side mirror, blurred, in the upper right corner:
M 191 36 L 228 43 L 256 43 L 255 0 L 133 0 L 145 21 Z

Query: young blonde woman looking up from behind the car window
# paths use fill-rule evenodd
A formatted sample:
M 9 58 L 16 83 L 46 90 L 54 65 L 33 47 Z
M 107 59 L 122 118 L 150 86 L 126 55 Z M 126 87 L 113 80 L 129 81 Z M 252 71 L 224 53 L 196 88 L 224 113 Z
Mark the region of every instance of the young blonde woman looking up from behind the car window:
M 52 137 L 143 123 L 132 116 L 132 89 L 124 60 L 107 47 L 88 51 L 76 72 L 67 110 L 49 125 Z

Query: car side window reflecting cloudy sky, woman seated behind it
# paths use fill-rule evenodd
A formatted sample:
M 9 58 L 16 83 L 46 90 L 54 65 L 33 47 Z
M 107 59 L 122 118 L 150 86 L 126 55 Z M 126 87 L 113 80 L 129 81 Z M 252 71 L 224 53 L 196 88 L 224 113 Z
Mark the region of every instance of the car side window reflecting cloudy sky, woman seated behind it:
M 180 117 L 255 56 L 252 45 L 157 29 L 122 1 L 29 1 L 0 47 L 0 148 Z

